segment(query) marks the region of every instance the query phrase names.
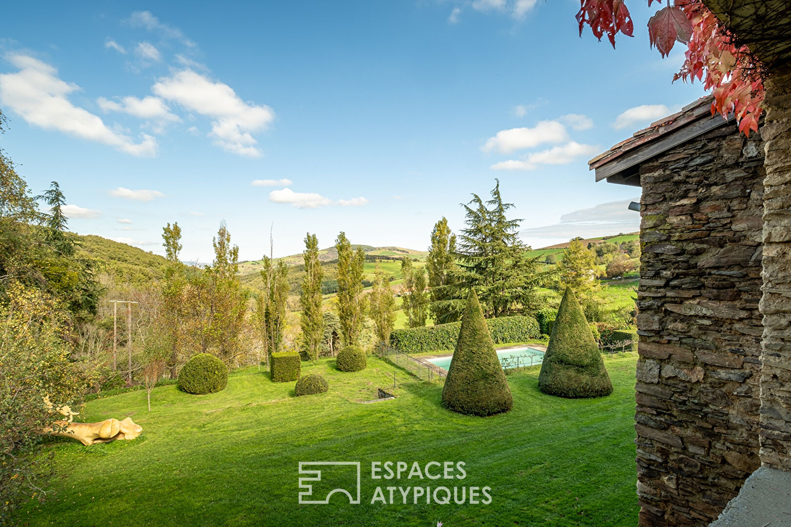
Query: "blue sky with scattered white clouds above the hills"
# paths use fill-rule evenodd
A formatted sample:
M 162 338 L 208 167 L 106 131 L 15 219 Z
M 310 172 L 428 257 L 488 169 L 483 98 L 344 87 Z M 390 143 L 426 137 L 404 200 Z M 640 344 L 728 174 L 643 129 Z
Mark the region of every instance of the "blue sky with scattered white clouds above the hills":
M 577 33 L 577 0 L 16 2 L 0 36 L 0 148 L 70 228 L 211 259 L 322 247 L 425 250 L 494 179 L 533 247 L 634 231 L 638 189 L 587 160 L 698 96 L 680 47 L 649 48 L 645 2 L 618 49 Z M 255 183 L 254 183 L 255 182 Z

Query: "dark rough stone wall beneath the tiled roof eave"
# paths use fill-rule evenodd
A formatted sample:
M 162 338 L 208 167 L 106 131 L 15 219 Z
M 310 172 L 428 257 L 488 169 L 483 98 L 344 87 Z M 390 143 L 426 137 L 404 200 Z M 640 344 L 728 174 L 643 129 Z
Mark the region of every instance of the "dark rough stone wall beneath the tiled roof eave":
M 760 465 L 763 152 L 728 125 L 640 167 L 640 525 L 708 525 Z

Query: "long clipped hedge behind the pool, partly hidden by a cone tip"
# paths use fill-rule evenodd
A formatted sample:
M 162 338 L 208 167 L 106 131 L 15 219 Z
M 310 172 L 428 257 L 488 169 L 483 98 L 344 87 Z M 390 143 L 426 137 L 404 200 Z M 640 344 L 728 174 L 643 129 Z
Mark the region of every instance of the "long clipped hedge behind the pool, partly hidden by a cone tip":
M 495 344 L 524 342 L 541 337 L 539 323 L 532 317 L 487 318 L 491 340 Z M 461 322 L 412 329 L 395 329 L 390 345 L 405 353 L 452 350 L 459 340 Z

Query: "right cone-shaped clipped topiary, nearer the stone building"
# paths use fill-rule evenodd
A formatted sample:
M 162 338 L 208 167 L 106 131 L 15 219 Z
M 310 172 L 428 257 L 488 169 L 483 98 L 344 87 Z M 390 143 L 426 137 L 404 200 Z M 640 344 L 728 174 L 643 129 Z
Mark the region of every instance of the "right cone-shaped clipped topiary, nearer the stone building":
M 577 297 L 566 289 L 539 374 L 539 390 L 559 397 L 600 397 L 612 383 Z

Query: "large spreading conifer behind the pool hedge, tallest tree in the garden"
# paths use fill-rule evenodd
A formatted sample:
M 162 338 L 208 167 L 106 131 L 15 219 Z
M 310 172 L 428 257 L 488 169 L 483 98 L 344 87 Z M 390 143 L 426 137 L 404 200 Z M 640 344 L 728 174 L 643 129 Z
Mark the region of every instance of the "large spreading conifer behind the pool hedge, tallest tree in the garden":
M 467 228 L 453 254 L 460 270 L 453 273 L 452 299 L 435 303 L 447 314 L 442 322 L 460 317 L 464 296 L 471 288 L 478 292 L 486 318 L 529 314 L 538 307 L 536 288 L 543 280 L 543 273 L 538 272 L 540 257 L 525 256 L 530 247 L 519 239 L 521 220 L 506 216 L 513 203 L 502 201 L 499 181 L 490 194 L 488 201 L 473 194 L 463 205 Z

